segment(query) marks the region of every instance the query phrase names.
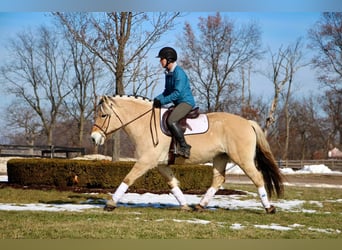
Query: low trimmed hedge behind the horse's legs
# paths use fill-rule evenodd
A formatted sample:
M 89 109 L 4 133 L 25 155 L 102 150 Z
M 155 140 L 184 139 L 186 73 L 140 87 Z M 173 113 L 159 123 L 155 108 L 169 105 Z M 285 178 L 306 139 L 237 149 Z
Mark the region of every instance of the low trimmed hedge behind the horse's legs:
M 133 165 L 134 162 L 107 160 L 12 159 L 7 162 L 7 175 L 10 184 L 107 189 L 116 188 Z M 204 191 L 211 185 L 213 173 L 210 166 L 170 167 L 184 191 Z M 158 170 L 152 169 L 130 187 L 130 191 L 141 189 L 161 192 L 169 190 L 169 187 Z

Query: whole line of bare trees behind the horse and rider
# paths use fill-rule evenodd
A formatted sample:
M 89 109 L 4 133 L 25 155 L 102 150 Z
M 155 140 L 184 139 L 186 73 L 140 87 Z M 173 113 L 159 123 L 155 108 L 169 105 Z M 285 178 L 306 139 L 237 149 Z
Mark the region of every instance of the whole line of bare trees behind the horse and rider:
M 50 13 L 53 20 L 18 33 L 0 79 L 13 103 L 6 113 L 10 143 L 86 147 L 115 158 L 133 156 L 127 136 L 116 133 L 94 148 L 89 132 L 99 96 L 153 98 L 160 79 L 150 51 L 174 29 L 180 12 Z M 237 23 L 215 13 L 188 22 L 178 34 L 179 63 L 202 111 L 224 111 L 258 121 L 277 158 L 325 158 L 342 145 L 342 13 L 321 13 L 305 37 L 264 49 L 258 23 Z M 166 42 L 165 42 L 166 43 Z M 304 51 L 313 52 L 306 58 Z M 271 100 L 252 93 L 251 74 L 267 62 Z M 317 75 L 318 96 L 300 96 L 296 76 L 305 66 Z M 10 114 L 10 115 L 8 115 Z M 120 143 L 120 141 L 122 143 Z M 124 142 L 124 143 L 123 143 Z

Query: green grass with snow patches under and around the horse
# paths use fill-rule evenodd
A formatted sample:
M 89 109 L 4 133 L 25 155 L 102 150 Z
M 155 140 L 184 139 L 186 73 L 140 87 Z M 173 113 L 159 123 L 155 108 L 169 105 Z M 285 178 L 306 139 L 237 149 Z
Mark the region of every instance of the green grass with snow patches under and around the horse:
M 255 193 L 251 185 L 229 185 L 230 189 Z M 88 198 L 101 202 L 105 194 L 27 189 L 0 189 L 0 203 L 80 203 Z M 246 195 L 242 199 L 255 198 Z M 0 239 L 341 239 L 342 203 L 339 189 L 287 187 L 283 199 L 304 200 L 304 208 L 315 213 L 216 209 L 185 212 L 174 208 L 119 207 L 82 212 L 0 211 Z M 319 206 L 317 202 L 323 204 Z M 204 220 L 207 224 L 187 221 Z M 233 229 L 240 224 L 241 229 Z M 256 228 L 255 225 L 291 227 L 292 230 Z M 293 226 L 299 225 L 300 226 Z M 325 231 L 323 231 L 325 230 Z

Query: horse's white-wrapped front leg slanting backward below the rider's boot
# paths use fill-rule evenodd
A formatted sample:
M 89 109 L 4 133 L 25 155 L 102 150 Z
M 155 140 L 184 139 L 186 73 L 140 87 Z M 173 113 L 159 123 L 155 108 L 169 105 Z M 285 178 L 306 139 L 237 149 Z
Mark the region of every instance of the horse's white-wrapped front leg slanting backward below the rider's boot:
M 175 198 L 177 199 L 177 201 L 181 205 L 181 208 L 183 210 L 190 210 L 190 208 L 186 202 L 185 196 L 184 196 L 182 190 L 178 186 L 179 181 L 174 176 L 172 169 L 167 165 L 159 165 L 158 171 L 166 179 L 167 184 L 171 188 L 172 194 L 175 196 Z

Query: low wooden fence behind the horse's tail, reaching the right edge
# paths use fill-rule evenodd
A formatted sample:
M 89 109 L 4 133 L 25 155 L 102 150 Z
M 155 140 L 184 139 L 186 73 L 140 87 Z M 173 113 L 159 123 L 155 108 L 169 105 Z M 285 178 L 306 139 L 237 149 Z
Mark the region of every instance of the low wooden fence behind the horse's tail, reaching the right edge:
M 278 161 L 280 168 L 292 168 L 298 170 L 308 165 L 325 165 L 334 171 L 342 171 L 342 159 L 324 159 L 324 160 L 288 160 Z

